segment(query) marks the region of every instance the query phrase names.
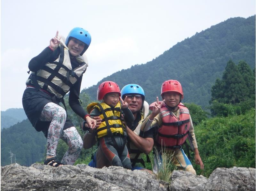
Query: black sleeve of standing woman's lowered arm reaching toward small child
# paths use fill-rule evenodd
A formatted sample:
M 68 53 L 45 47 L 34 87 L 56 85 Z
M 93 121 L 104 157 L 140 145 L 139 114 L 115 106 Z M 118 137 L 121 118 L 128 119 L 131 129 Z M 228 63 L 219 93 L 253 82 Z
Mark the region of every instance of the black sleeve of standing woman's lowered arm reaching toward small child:
M 68 97 L 68 103 L 71 109 L 79 115 L 81 118 L 84 118 L 84 116 L 87 114 L 86 111 L 83 109 L 79 102 L 79 95 L 80 95 L 80 88 L 82 83 L 82 76 L 79 77 L 79 79 L 76 81 L 74 86 L 70 88 L 69 97 Z

